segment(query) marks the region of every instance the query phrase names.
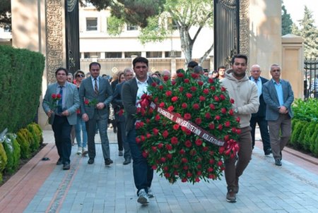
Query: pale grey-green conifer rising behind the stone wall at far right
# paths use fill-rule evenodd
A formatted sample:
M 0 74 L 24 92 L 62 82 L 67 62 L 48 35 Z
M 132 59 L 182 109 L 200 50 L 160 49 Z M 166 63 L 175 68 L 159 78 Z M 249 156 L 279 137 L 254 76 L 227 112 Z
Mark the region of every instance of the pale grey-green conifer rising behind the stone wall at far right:
M 305 6 L 304 18 L 299 21 L 300 28 L 294 26 L 293 33 L 304 39 L 305 57 L 318 58 L 318 29 L 312 17 L 312 11 Z

